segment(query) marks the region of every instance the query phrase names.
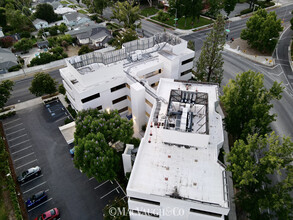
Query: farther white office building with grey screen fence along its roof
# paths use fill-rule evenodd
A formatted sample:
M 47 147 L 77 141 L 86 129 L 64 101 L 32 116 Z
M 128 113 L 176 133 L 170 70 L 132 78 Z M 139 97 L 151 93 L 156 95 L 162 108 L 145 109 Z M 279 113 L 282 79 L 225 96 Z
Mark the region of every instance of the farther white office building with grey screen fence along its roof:
M 69 58 L 60 73 L 77 111 L 117 109 L 122 115 L 132 115 L 135 132 L 139 132 L 150 116 L 151 94 L 160 78 L 190 79 L 193 57 L 186 41 L 161 33 L 126 43 L 121 50 Z

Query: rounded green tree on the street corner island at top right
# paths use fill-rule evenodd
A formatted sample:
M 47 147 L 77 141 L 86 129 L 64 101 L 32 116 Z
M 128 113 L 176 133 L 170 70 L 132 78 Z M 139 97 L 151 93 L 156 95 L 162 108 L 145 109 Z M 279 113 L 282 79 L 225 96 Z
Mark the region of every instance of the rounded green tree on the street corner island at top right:
M 278 42 L 279 32 L 283 30 L 276 13 L 267 13 L 265 9 L 257 10 L 246 22 L 246 27 L 241 32 L 241 39 L 247 40 L 249 46 L 261 52 L 272 52 Z

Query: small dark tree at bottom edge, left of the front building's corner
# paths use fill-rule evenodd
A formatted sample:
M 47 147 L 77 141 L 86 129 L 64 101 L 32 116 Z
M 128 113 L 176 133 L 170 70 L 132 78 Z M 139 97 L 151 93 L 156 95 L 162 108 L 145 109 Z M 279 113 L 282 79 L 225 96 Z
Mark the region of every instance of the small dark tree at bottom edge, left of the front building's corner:
M 111 209 L 115 208 L 116 213 L 111 213 Z M 104 220 L 129 220 L 128 204 L 121 198 L 115 198 L 103 210 Z M 125 214 L 124 214 L 125 213 Z M 115 214 L 113 216 L 113 214 Z

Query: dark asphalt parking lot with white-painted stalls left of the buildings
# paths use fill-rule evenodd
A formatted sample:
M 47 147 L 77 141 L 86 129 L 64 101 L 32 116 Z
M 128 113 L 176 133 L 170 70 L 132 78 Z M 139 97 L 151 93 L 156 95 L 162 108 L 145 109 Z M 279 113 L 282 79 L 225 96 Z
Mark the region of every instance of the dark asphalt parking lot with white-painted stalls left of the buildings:
M 58 127 L 69 117 L 60 102 L 39 104 L 17 112 L 3 121 L 10 154 L 17 175 L 34 166 L 42 174 L 21 184 L 24 201 L 39 191 L 48 199 L 28 211 L 29 219 L 58 208 L 61 219 L 103 219 L 102 210 L 115 197 L 125 197 L 116 181 L 99 183 L 73 165 Z

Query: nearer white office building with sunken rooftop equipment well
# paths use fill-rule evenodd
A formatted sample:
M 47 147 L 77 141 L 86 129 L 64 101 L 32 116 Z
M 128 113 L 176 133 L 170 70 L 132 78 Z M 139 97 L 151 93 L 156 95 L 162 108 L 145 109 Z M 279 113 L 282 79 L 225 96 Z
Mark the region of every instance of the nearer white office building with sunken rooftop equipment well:
M 127 186 L 130 219 L 224 219 L 218 86 L 161 79 L 156 94 Z

